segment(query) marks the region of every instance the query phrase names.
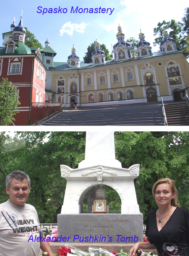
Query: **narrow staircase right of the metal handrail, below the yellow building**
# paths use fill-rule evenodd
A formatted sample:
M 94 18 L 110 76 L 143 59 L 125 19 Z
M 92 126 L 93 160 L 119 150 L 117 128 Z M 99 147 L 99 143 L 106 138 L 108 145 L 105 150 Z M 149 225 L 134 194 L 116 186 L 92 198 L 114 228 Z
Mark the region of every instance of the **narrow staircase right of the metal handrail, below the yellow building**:
M 164 104 L 168 126 L 189 125 L 189 107 L 187 102 Z

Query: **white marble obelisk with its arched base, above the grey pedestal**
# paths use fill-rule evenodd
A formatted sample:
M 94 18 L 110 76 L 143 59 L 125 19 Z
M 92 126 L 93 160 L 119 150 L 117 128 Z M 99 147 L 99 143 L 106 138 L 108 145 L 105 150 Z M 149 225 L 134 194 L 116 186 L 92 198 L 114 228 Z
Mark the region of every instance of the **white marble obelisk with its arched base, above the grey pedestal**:
M 77 169 L 60 165 L 61 176 L 67 180 L 61 214 L 83 212 L 83 199 L 93 186 L 105 184 L 121 198 L 122 214 L 139 214 L 133 180 L 139 175 L 139 164 L 122 168 L 115 159 L 113 132 L 86 132 L 85 160 Z

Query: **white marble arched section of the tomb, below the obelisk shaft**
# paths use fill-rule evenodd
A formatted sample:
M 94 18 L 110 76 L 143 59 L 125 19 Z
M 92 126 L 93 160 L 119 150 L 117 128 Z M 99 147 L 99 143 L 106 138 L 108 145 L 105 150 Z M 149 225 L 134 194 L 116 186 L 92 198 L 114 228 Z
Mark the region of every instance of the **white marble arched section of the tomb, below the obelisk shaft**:
M 104 184 L 115 189 L 121 198 L 121 214 L 139 214 L 133 180 L 139 175 L 139 164 L 130 168 L 96 165 L 71 169 L 60 165 L 61 176 L 67 180 L 61 214 L 79 214 L 84 211 L 83 200 L 93 186 Z

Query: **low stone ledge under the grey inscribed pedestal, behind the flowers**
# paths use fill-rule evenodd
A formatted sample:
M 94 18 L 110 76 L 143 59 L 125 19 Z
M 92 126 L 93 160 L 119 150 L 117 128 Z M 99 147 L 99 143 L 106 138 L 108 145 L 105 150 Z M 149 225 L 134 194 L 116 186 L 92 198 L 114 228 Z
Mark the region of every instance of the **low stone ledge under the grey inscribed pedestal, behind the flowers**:
M 63 247 L 66 245 L 66 243 L 60 243 L 60 242 L 49 242 L 51 249 L 53 251 L 53 253 L 57 253 L 57 249 L 58 247 Z M 69 243 L 68 243 L 69 244 Z M 130 243 L 130 244 L 105 244 L 105 243 L 71 243 L 69 244 L 71 246 L 77 247 L 78 249 L 84 251 L 84 252 L 88 252 L 88 248 L 89 247 L 98 247 L 98 248 L 103 248 L 106 249 L 108 252 L 119 252 L 121 249 L 124 249 L 124 252 L 129 253 L 130 249 L 132 248 L 132 246 L 134 245 L 134 243 Z M 145 250 L 146 253 L 151 252 L 152 250 Z M 154 250 L 156 251 L 156 250 Z M 41 252 L 39 253 L 39 256 L 41 256 Z

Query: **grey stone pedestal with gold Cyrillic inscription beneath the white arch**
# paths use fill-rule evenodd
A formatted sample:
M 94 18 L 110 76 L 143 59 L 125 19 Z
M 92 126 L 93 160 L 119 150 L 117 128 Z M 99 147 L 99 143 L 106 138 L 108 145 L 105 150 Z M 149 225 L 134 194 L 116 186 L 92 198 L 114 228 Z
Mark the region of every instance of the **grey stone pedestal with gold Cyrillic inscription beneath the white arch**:
M 143 241 L 143 214 L 83 212 L 58 214 L 59 242 L 134 243 Z M 62 238 L 61 238 L 62 236 Z M 62 240 L 64 237 L 64 240 Z

